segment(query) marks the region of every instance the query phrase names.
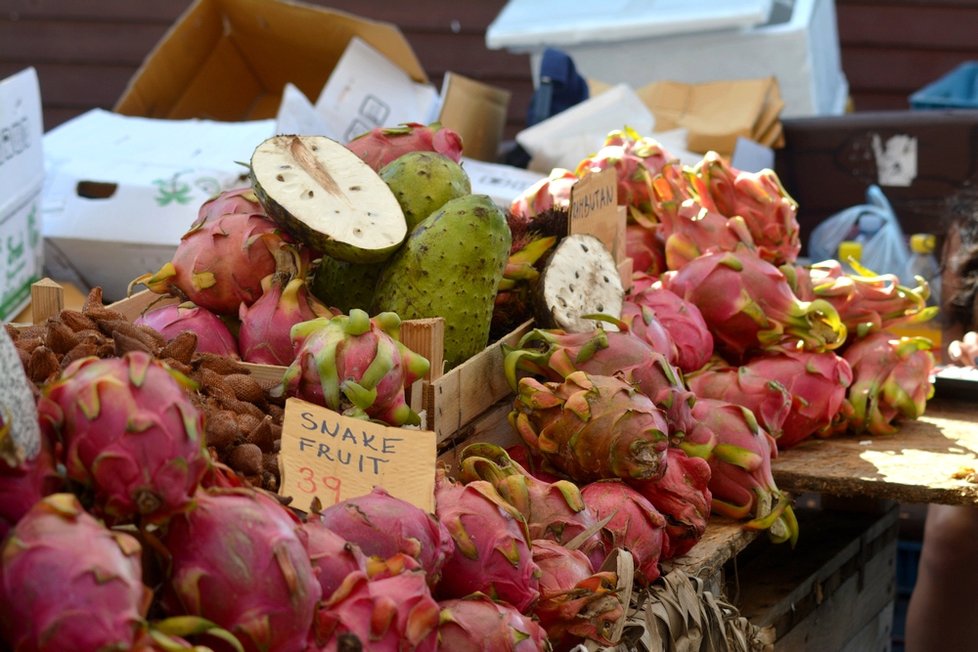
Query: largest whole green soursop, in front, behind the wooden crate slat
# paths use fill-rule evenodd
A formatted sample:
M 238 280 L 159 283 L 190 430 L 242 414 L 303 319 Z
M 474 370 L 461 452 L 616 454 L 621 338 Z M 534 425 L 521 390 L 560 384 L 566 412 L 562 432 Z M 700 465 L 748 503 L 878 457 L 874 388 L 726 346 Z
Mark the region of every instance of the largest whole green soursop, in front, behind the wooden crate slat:
M 422 220 L 384 266 L 373 313 L 445 320 L 445 364 L 482 351 L 512 236 L 506 216 L 486 195 L 448 201 Z

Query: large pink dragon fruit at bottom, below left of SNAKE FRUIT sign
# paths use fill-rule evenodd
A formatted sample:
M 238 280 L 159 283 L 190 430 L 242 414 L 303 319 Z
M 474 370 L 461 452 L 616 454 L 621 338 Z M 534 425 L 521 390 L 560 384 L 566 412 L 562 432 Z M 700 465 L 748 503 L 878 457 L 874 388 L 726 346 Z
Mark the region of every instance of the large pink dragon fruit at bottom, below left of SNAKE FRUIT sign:
M 171 614 L 206 618 L 247 652 L 305 645 L 322 589 L 298 519 L 274 497 L 201 490 L 162 542 L 170 553 L 164 602 Z

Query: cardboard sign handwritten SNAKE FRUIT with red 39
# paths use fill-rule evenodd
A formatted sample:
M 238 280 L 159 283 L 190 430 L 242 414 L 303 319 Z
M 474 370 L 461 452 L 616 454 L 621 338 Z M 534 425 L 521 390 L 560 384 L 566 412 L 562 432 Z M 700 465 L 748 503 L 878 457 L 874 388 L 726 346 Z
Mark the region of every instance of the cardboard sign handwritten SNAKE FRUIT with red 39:
M 309 511 L 381 486 L 429 513 L 435 510 L 436 435 L 345 417 L 314 403 L 285 403 L 279 494 Z

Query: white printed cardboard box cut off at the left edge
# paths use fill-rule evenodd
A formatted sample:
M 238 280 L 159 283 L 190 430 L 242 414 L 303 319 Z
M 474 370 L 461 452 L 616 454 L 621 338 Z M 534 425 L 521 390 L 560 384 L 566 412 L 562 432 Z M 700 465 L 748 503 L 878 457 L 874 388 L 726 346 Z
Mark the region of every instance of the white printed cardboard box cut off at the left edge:
M 26 68 L 0 81 L 0 320 L 28 304 L 41 278 L 44 184 L 41 90 Z

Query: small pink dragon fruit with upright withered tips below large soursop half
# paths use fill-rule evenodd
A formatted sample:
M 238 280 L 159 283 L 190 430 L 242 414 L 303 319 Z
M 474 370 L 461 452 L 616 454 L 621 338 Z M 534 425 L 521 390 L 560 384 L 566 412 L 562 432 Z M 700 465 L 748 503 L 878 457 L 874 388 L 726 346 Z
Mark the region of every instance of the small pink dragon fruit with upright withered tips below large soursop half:
M 309 290 L 306 264 L 296 247 L 279 247 L 275 260 L 275 273 L 262 281 L 262 295 L 238 308 L 238 347 L 245 362 L 287 367 L 295 360 L 292 327 L 334 313 Z

